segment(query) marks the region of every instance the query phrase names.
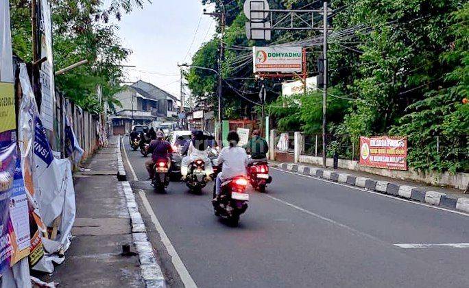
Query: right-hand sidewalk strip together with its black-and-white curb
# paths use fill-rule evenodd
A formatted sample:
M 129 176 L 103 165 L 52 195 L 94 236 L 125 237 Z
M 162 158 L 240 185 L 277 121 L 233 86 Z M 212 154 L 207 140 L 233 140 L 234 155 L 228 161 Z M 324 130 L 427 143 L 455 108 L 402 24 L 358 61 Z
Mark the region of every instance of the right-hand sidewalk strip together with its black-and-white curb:
M 332 167 L 324 169 L 306 163 L 278 163 L 272 161 L 272 166 L 378 193 L 469 213 L 469 195 L 457 189 L 434 187 L 420 182 L 378 176 L 362 171 L 333 169 Z

